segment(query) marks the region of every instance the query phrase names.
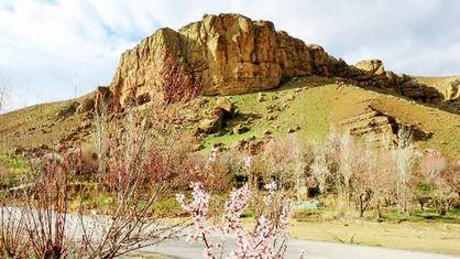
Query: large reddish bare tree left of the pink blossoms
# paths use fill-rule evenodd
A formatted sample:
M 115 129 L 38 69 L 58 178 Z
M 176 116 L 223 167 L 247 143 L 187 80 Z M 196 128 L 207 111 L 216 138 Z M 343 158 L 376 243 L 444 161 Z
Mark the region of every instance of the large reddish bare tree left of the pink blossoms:
M 99 134 L 107 136 L 99 141 L 107 142 L 99 149 L 105 153 L 98 155 L 103 160 L 96 177 L 100 190 L 94 193 L 83 188 L 81 192 L 79 256 L 83 258 L 121 256 L 158 244 L 183 228 L 183 224 L 163 224 L 165 216 L 155 212 L 156 203 L 168 196 L 177 166 L 185 159 L 172 122 L 179 120 L 172 116 L 178 116 L 171 111 L 174 105 L 156 105 L 152 104 L 143 111 L 128 108 L 119 126 Z M 165 114 L 157 114 L 160 111 Z M 165 121 L 164 116 L 171 116 L 167 117 L 169 121 Z M 114 194 L 109 207 L 85 204 L 89 195 L 99 198 L 107 193 Z

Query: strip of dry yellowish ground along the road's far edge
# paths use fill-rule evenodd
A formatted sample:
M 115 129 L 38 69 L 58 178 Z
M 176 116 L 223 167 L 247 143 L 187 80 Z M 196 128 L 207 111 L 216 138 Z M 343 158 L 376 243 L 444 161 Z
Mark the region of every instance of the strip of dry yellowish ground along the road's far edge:
M 294 238 L 460 255 L 460 225 L 439 222 L 295 222 Z

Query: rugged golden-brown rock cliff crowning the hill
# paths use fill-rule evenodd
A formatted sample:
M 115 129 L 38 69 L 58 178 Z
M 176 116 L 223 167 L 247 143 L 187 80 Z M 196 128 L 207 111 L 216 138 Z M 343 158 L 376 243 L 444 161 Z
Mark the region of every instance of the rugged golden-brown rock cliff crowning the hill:
M 174 84 L 171 74 L 179 77 Z M 240 14 L 205 15 L 178 32 L 156 31 L 121 55 L 110 90 L 113 104 L 123 107 L 162 94 L 165 86 L 169 95 L 184 91 L 189 84 L 182 82 L 193 83 L 202 95 L 233 95 L 275 88 L 305 75 L 339 76 L 358 85 L 392 87 L 403 95 L 410 90 L 414 98 L 424 98 L 426 91 L 404 85 L 410 78 L 385 72 L 380 61 L 349 66 L 321 46 L 275 31 L 272 22 Z M 437 98 L 437 93 L 430 91 L 431 97 Z

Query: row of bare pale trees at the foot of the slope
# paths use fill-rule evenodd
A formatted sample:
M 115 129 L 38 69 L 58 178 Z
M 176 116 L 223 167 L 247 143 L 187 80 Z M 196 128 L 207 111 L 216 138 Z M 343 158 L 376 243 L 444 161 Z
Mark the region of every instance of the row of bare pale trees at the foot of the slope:
M 258 155 L 230 150 L 213 154 L 205 164 L 200 173 L 215 192 L 228 191 L 240 180 L 252 190 L 274 180 L 298 201 L 307 193 L 335 197 L 339 211 L 355 208 L 361 216 L 371 207 L 382 216 L 383 206 L 407 212 L 417 203 L 443 215 L 459 203 L 459 162 L 436 151 L 417 151 L 410 129 L 404 126 L 391 147 L 371 148 L 348 133 L 331 133 L 311 144 L 289 136 L 271 140 Z

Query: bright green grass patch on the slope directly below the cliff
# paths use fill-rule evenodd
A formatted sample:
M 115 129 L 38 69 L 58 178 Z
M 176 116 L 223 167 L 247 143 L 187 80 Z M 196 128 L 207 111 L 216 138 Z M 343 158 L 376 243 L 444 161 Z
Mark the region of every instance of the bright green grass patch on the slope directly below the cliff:
M 288 134 L 289 129 L 294 129 L 306 141 L 322 139 L 330 128 L 335 94 L 336 86 L 330 80 L 305 77 L 264 91 L 263 101 L 258 100 L 258 93 L 229 96 L 239 115 L 227 120 L 221 132 L 205 138 L 202 145 L 205 149 L 216 142 L 230 145 L 251 137 L 282 138 Z M 209 98 L 212 102 L 213 97 Z M 248 119 L 251 121 L 248 122 Z M 234 134 L 232 129 L 240 123 L 248 127 L 249 131 Z M 265 131 L 272 133 L 266 136 Z

